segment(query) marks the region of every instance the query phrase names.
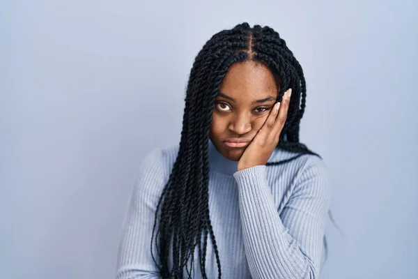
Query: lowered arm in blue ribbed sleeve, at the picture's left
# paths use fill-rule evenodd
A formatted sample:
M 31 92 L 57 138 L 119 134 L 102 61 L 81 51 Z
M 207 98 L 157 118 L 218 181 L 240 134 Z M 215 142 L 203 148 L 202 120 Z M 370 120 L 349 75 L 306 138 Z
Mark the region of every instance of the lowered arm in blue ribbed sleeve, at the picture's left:
M 155 149 L 141 163 L 134 183 L 119 246 L 117 279 L 160 278 L 150 254 L 150 243 L 164 182 L 161 151 Z M 153 254 L 158 259 L 155 247 Z

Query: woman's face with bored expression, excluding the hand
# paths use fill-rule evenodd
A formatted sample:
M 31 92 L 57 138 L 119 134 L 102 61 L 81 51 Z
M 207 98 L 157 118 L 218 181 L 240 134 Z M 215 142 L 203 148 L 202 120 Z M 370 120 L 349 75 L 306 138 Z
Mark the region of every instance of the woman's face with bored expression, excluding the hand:
M 210 140 L 219 153 L 240 160 L 272 110 L 277 91 L 272 72 L 263 64 L 245 61 L 229 68 L 210 126 Z

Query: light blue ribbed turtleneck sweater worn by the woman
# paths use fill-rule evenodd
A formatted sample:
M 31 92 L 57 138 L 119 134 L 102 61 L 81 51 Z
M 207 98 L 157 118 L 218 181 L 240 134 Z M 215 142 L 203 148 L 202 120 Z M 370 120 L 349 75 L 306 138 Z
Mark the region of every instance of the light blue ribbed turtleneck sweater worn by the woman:
M 150 240 L 157 202 L 177 153 L 178 145 L 154 149 L 139 167 L 123 227 L 118 279 L 160 278 Z M 294 155 L 275 149 L 268 161 Z M 318 278 L 330 205 L 323 160 L 304 155 L 284 165 L 237 171 L 238 162 L 222 156 L 210 140 L 209 160 L 210 220 L 222 278 Z M 193 278 L 201 278 L 197 248 L 195 252 Z M 218 276 L 210 237 L 206 272 L 208 278 Z

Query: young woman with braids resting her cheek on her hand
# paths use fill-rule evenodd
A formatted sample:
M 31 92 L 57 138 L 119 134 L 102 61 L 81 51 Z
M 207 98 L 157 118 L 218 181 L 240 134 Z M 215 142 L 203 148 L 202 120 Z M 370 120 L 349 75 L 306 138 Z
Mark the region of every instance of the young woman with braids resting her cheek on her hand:
M 117 278 L 318 278 L 330 187 L 299 140 L 305 98 L 279 33 L 243 23 L 212 36 L 180 144 L 139 169 Z

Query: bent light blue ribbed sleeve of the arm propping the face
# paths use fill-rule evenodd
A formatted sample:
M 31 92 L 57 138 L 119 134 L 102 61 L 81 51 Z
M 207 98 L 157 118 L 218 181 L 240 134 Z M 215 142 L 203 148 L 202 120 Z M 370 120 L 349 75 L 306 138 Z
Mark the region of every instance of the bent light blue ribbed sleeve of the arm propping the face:
M 330 203 L 322 160 L 308 156 L 280 216 L 265 165 L 233 174 L 238 183 L 245 253 L 252 278 L 318 278 Z

